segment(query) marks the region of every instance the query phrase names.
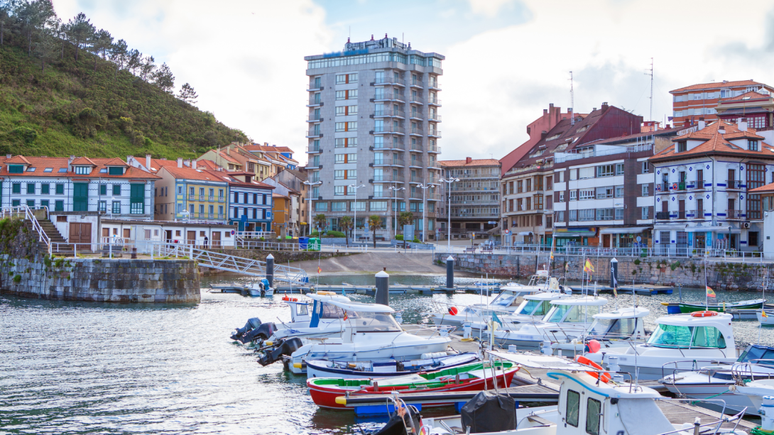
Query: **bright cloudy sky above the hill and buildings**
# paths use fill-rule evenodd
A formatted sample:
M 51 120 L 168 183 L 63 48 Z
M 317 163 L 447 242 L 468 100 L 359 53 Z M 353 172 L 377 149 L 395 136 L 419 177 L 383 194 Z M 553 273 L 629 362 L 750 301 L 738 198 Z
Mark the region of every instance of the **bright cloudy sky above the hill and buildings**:
M 670 90 L 753 79 L 774 84 L 774 5 L 635 0 L 53 0 L 130 48 L 166 62 L 197 106 L 304 163 L 304 56 L 397 37 L 443 54 L 440 159 L 499 159 L 554 104 L 608 102 L 663 121 Z M 651 62 L 653 81 L 651 101 Z M 652 115 L 651 115 L 652 103 Z

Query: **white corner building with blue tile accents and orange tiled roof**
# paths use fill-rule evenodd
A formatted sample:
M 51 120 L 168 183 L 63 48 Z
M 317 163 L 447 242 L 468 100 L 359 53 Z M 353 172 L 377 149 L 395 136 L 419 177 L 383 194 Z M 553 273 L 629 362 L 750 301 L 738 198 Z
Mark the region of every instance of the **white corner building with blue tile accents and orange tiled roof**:
M 656 182 L 654 248 L 758 251 L 762 200 L 748 190 L 774 176 L 774 150 L 744 118 L 738 125 L 700 121 L 683 132 L 649 159 Z

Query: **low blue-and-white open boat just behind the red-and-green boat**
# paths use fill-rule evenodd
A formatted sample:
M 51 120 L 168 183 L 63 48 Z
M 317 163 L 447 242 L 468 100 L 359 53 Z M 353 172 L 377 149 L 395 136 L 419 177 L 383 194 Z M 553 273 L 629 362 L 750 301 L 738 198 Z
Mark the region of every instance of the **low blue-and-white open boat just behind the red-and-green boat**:
M 396 361 L 307 361 L 307 376 L 310 378 L 394 378 L 396 376 L 412 375 L 419 372 L 433 372 L 444 368 L 453 368 L 479 361 L 478 355 L 467 352 L 464 354 L 422 355 L 424 358 Z

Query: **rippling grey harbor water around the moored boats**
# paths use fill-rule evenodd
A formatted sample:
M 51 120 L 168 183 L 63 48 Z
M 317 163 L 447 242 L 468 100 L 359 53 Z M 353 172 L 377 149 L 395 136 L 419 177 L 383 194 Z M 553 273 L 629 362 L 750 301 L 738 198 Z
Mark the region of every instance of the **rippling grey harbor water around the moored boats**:
M 238 282 L 203 279 L 203 285 Z M 313 279 L 314 280 L 314 279 Z M 391 283 L 443 284 L 445 276 L 393 276 Z M 480 279 L 458 279 L 473 283 Z M 320 283 L 371 285 L 372 275 L 322 276 Z M 370 302 L 372 297 L 348 295 Z M 721 300 L 760 293 L 719 292 Z M 612 295 L 606 310 L 613 307 Z M 635 296 L 618 297 L 631 305 Z M 475 294 L 392 294 L 406 323 L 426 321 L 430 301 L 462 307 L 486 302 Z M 651 311 L 649 329 L 672 295 L 636 296 Z M 770 301 L 772 297 L 767 298 Z M 703 302 L 704 291 L 683 289 Z M 228 336 L 249 317 L 289 320 L 281 296 L 250 298 L 202 293 L 191 305 L 110 304 L 0 296 L 0 434 L 5 433 L 359 433 L 377 423 L 351 412 L 319 409 L 306 379 L 262 367 L 252 350 Z M 755 320 L 735 321 L 737 345 L 759 341 Z M 774 328 L 762 331 L 774 345 Z M 435 410 L 433 413 L 450 413 Z

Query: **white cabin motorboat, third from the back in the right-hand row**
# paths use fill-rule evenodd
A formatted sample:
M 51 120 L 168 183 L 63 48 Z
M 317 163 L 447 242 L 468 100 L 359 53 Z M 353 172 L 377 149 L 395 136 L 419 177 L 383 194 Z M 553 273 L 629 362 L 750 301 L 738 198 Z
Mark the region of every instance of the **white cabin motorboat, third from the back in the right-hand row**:
M 598 296 L 580 296 L 550 301 L 551 310 L 543 320 L 515 325 L 510 329 L 503 324 L 494 331 L 494 341 L 502 347 L 515 344 L 517 348 L 538 349 L 543 341 L 566 341 L 568 337 L 579 337 L 594 323 L 594 315 L 601 313 L 608 300 Z M 508 328 L 508 329 L 506 329 Z M 492 331 L 485 331 L 486 340 L 491 340 Z

